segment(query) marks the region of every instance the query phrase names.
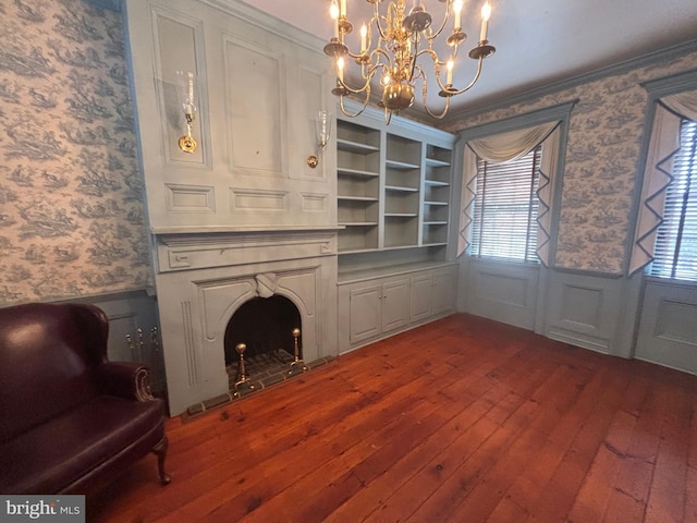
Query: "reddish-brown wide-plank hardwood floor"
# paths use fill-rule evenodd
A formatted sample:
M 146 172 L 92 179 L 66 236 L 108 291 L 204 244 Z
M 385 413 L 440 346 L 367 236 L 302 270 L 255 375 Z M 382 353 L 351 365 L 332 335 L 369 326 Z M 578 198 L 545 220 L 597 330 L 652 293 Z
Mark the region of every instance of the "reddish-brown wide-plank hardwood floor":
M 454 315 L 168 425 L 95 522 L 697 522 L 697 377 Z

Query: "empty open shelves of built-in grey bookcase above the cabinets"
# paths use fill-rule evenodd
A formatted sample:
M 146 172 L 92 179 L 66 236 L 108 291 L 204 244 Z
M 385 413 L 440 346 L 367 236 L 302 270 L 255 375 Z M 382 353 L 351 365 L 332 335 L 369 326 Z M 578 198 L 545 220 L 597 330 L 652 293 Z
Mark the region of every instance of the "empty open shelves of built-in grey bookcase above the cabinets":
M 447 259 L 453 146 L 452 134 L 400 118 L 388 125 L 380 111 L 339 115 L 340 272 L 379 266 L 388 251 L 426 264 Z

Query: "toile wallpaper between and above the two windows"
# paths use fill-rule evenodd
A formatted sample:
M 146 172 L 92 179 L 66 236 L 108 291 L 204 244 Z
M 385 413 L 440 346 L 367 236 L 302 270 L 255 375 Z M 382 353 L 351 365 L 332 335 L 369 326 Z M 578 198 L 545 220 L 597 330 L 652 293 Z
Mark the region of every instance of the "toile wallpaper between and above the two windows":
M 578 99 L 570 122 L 555 266 L 622 273 L 648 96 L 647 80 L 697 66 L 697 53 L 467 119 L 501 120 Z M 456 125 L 451 131 L 460 131 Z

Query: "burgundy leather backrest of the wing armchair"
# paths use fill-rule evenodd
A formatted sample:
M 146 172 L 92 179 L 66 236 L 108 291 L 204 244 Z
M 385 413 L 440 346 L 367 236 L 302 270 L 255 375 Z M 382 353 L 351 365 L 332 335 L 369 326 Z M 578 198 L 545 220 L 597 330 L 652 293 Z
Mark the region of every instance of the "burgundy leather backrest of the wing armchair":
M 109 321 L 88 304 L 0 308 L 0 442 L 89 401 Z

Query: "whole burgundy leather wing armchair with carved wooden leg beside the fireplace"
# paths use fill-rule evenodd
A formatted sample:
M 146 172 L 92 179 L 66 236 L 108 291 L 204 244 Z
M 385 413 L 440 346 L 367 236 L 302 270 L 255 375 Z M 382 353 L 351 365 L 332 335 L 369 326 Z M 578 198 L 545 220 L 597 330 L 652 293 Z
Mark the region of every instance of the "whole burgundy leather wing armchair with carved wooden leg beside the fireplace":
M 94 305 L 0 308 L 1 494 L 88 494 L 149 452 L 170 482 L 163 401 L 108 333 Z

